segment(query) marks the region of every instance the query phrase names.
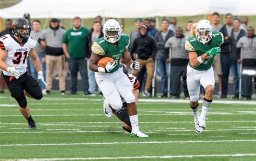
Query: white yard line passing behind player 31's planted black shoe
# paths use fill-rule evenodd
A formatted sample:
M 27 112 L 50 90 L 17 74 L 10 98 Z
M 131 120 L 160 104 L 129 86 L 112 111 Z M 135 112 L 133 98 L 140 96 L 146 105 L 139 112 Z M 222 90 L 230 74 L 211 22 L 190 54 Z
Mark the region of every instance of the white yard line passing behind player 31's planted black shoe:
M 233 123 L 233 122 L 256 122 L 256 120 L 234 120 L 234 121 L 207 121 L 207 123 Z M 37 122 L 37 124 L 102 124 L 102 123 L 118 123 L 120 122 Z M 142 121 L 139 123 L 194 123 L 194 121 Z M 28 124 L 28 123 L 20 123 L 20 122 L 0 122 L 0 124 Z

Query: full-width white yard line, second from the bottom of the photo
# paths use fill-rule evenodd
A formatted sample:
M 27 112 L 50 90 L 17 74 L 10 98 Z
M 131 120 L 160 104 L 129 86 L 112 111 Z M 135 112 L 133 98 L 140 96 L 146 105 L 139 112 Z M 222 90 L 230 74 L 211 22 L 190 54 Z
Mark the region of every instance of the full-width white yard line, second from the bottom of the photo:
M 115 145 L 115 144 L 172 144 L 172 143 L 226 143 L 226 142 L 256 142 L 255 139 L 217 140 L 217 141 L 150 141 L 150 142 L 102 142 L 102 143 L 46 143 L 46 144 L 3 144 L 0 146 L 50 146 L 50 145 Z

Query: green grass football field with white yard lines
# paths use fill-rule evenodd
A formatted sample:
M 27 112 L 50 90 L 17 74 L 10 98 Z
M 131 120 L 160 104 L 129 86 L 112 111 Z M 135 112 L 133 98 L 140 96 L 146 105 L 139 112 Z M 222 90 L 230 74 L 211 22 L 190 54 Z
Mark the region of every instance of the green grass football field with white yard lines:
M 105 117 L 101 97 L 79 94 L 28 99 L 37 130 L 1 94 L 0 160 L 256 160 L 255 101 L 213 102 L 207 129 L 196 134 L 188 100 L 142 97 L 139 126 L 149 138 L 131 138 L 118 118 Z

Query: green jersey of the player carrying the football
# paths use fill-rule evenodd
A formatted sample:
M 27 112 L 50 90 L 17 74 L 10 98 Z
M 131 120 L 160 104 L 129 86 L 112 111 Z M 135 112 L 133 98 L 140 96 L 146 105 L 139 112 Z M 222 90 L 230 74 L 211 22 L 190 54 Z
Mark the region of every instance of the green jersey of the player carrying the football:
M 110 73 L 116 72 L 120 66 L 120 59 L 123 57 L 124 52 L 127 50 L 130 43 L 129 36 L 121 34 L 121 38 L 118 40 L 117 46 L 107 42 L 103 37 L 99 38 L 92 45 L 92 52 L 103 57 L 113 58 L 117 66 L 114 67 Z

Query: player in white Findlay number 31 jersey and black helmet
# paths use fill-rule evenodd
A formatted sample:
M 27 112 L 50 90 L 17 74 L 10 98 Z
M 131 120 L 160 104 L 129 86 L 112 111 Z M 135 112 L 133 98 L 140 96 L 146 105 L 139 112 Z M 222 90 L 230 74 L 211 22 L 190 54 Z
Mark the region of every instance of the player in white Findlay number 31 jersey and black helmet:
M 44 81 L 42 68 L 35 50 L 37 40 L 30 37 L 31 27 L 25 18 L 17 18 L 12 23 L 12 34 L 0 38 L 0 68 L 3 69 L 4 83 L 11 96 L 19 104 L 19 111 L 29 122 L 29 129 L 37 129 L 30 115 L 26 96 L 40 100 L 43 97 L 36 79 L 26 72 L 26 58 L 30 56 L 38 73 L 38 80 Z

